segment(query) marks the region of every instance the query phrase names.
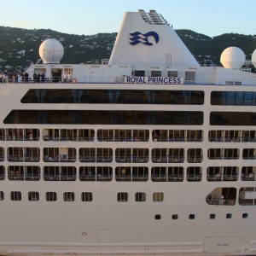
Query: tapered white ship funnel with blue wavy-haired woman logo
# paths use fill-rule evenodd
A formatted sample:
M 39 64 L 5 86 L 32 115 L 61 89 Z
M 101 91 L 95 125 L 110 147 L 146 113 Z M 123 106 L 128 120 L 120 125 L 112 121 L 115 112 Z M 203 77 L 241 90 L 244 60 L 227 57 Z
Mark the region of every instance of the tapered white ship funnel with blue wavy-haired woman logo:
M 164 17 L 142 9 L 125 13 L 108 64 L 199 67 Z

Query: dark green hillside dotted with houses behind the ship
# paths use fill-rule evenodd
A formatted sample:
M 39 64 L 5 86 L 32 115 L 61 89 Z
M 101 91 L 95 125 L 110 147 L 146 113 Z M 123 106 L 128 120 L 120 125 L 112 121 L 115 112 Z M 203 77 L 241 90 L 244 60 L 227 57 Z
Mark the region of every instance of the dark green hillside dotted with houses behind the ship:
M 256 37 L 252 35 L 230 33 L 210 38 L 185 29 L 176 32 L 204 66 L 219 65 L 222 51 L 229 46 L 241 48 L 247 59 L 256 49 Z M 65 55 L 61 63 L 94 63 L 96 60 L 108 59 L 116 36 L 116 32 L 85 36 L 49 29 L 26 30 L 0 26 L 0 71 L 23 72 L 31 62 L 39 60 L 38 48 L 47 38 L 55 38 L 63 45 Z

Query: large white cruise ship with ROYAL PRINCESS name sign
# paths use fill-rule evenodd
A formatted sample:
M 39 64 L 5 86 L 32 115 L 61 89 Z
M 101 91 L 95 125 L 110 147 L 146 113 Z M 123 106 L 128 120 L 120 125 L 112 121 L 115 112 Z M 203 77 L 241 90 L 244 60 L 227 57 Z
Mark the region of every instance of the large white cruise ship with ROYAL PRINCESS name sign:
M 256 254 L 256 74 L 241 49 L 201 67 L 141 9 L 109 61 L 61 64 L 55 39 L 39 54 L 0 85 L 1 255 Z

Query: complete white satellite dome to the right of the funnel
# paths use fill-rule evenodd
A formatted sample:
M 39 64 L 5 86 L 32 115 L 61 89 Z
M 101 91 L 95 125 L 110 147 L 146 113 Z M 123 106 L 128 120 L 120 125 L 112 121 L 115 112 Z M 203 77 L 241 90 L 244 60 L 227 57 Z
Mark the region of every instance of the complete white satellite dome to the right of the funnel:
M 224 67 L 240 69 L 245 63 L 245 54 L 240 48 L 232 46 L 224 49 L 220 62 Z

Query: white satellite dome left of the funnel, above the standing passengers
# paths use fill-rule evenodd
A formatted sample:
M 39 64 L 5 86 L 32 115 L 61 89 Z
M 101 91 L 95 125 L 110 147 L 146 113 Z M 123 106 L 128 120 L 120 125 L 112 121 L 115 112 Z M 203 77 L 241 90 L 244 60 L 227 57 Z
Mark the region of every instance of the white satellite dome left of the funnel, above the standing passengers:
M 60 63 L 64 54 L 62 44 L 55 39 L 47 39 L 39 47 L 39 55 L 44 64 Z

